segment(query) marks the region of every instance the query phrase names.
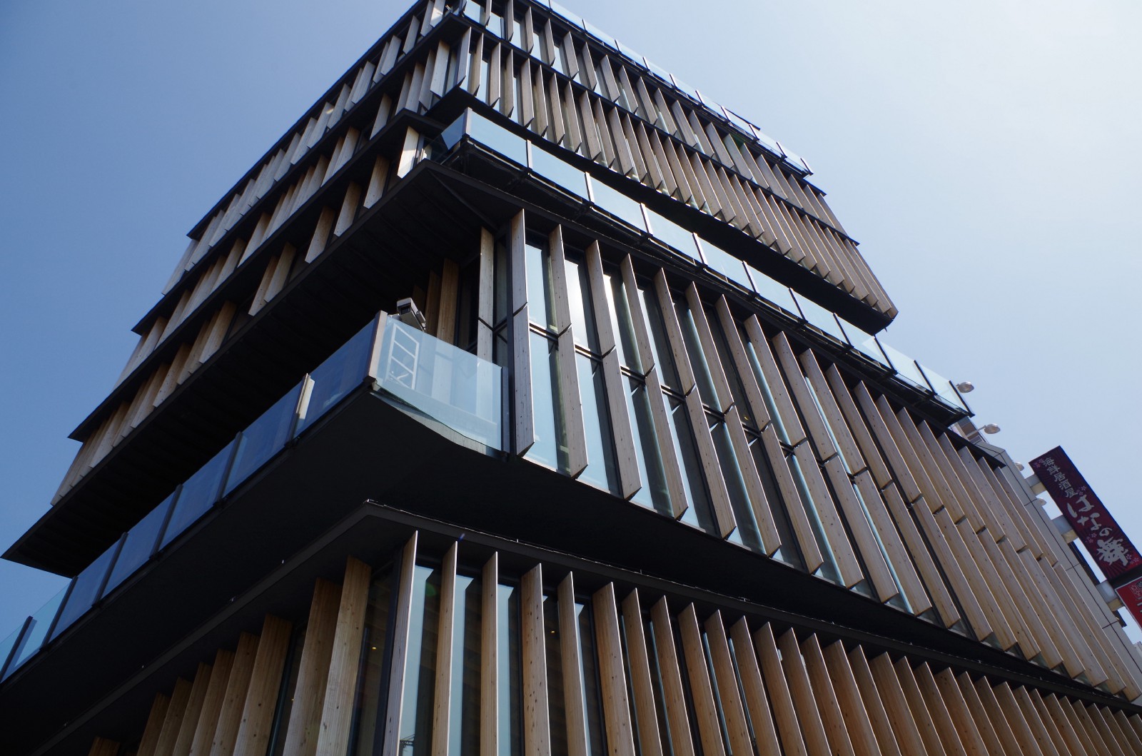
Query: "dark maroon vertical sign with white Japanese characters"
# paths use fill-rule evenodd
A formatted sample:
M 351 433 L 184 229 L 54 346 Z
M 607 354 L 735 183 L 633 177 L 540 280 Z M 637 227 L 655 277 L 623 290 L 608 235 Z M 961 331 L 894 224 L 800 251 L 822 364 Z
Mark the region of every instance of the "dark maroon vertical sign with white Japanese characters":
M 1062 447 L 1032 459 L 1031 468 L 1108 580 L 1142 566 L 1142 555 L 1102 506 Z

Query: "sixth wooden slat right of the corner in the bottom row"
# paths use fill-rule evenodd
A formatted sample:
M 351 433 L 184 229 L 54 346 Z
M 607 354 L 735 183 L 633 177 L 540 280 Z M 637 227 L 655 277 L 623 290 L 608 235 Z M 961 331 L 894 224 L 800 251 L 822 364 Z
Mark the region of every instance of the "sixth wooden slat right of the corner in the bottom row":
M 630 721 L 614 584 L 609 582 L 597 590 L 592 598 L 592 606 L 608 750 L 613 756 L 634 756 L 634 724 Z

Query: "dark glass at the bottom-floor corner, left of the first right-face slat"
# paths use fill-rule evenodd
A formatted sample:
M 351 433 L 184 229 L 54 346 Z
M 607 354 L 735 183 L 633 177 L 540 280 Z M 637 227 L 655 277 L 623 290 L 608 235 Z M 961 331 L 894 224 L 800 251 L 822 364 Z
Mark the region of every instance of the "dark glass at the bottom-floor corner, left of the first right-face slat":
M 393 601 L 392 571 L 373 579 L 369 586 L 364 637 L 361 643 L 361 666 L 357 678 L 360 693 L 353 709 L 352 756 L 372 756 L 381 751 L 385 734 L 385 695 L 388 693 L 388 649 L 385 645 L 388 614 Z

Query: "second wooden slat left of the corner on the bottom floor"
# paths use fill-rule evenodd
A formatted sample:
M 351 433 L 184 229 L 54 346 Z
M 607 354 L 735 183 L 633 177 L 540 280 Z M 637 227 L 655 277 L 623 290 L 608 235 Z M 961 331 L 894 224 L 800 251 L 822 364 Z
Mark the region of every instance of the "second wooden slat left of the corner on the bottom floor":
M 321 579 L 314 585 L 283 756 L 313 756 L 317 750 L 321 709 L 325 700 L 340 600 L 340 586 Z

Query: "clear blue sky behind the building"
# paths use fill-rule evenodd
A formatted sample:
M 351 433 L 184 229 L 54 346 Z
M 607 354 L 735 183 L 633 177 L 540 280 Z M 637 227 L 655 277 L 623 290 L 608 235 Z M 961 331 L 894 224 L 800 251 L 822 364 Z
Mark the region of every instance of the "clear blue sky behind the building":
M 885 340 L 974 383 L 1014 459 L 1062 444 L 1142 545 L 1142 7 L 563 5 L 805 158 L 900 309 Z M 0 548 L 186 232 L 405 7 L 0 3 Z M 64 585 L 0 562 L 0 638 Z

